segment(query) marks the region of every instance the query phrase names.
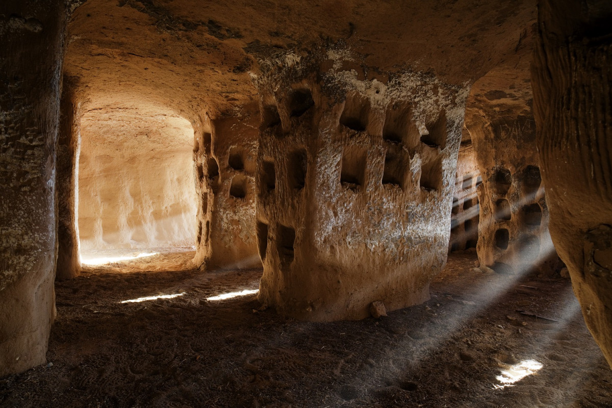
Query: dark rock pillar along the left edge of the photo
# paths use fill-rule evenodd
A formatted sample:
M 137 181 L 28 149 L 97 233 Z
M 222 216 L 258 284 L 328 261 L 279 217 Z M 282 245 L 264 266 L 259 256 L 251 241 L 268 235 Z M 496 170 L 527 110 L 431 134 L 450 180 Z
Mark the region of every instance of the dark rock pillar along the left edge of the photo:
M 45 362 L 54 319 L 54 150 L 65 9 L 56 1 L 8 0 L 0 15 L 2 376 Z

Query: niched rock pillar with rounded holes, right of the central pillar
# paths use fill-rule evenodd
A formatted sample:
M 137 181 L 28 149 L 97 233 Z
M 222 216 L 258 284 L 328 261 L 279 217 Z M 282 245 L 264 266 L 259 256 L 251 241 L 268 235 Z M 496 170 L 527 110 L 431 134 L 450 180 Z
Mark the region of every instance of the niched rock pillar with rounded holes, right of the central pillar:
M 534 122 L 529 117 L 475 121 L 468 129 L 483 171 L 478 190 L 480 264 L 502 273 L 553 273 L 558 257 L 548 234 Z

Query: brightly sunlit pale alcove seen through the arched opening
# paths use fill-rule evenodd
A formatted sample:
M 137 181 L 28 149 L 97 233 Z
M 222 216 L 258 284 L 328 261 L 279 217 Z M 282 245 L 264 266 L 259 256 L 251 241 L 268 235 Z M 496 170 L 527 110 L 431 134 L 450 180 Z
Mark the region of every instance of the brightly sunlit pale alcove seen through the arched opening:
M 167 111 L 87 111 L 77 199 L 83 264 L 195 250 L 192 125 Z

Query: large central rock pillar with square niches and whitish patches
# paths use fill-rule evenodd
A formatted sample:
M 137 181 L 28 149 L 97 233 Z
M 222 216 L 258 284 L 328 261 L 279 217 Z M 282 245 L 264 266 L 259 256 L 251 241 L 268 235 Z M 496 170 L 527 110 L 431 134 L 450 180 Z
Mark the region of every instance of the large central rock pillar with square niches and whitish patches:
M 467 91 L 359 80 L 347 54 L 322 54 L 327 70 L 286 56 L 258 78 L 259 299 L 316 321 L 424 302 L 446 262 Z

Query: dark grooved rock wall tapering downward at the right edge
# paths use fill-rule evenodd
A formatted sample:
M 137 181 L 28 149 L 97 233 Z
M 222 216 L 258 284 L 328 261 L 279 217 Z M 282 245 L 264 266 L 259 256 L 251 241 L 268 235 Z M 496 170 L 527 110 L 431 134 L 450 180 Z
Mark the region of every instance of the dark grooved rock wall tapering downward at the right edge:
M 540 4 L 532 70 L 550 232 L 612 365 L 612 5 Z

